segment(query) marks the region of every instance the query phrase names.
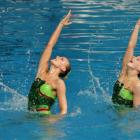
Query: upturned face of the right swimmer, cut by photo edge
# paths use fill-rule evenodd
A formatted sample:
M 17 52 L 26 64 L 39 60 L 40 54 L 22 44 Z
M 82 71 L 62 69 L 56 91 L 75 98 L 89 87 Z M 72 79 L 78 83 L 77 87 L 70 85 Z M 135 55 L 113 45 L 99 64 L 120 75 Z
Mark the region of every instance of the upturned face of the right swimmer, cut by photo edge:
M 130 68 L 140 71 L 140 56 L 133 56 L 127 65 Z

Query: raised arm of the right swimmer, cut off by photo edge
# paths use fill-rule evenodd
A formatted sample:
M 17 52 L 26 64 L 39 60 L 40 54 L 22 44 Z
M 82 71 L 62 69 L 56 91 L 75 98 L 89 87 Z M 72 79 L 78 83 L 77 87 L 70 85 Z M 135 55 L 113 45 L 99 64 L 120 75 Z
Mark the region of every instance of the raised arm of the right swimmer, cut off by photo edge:
M 140 29 L 140 20 L 137 21 L 135 28 L 131 34 L 131 37 L 128 43 L 128 48 L 123 58 L 122 71 L 121 71 L 120 76 L 124 76 L 126 74 L 127 63 L 132 59 L 134 55 L 134 48 L 136 47 L 139 29 Z

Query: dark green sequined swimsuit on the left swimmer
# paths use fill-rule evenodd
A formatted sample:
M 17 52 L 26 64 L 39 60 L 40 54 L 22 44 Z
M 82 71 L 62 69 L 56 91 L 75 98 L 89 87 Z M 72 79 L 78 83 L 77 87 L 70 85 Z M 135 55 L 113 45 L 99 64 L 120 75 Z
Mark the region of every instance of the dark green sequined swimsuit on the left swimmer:
M 56 96 L 53 89 L 45 81 L 37 78 L 31 86 L 28 95 L 28 110 L 38 111 L 42 114 L 51 114 L 50 108 L 54 104 Z

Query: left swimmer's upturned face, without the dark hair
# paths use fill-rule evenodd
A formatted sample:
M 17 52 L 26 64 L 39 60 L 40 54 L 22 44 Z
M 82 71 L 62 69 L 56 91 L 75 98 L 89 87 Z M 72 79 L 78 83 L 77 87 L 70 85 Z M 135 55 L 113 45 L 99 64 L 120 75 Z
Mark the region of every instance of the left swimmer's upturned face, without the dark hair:
M 57 68 L 60 68 L 62 72 L 65 72 L 67 67 L 70 65 L 69 60 L 66 57 L 57 56 L 55 59 L 51 60 L 51 64 Z

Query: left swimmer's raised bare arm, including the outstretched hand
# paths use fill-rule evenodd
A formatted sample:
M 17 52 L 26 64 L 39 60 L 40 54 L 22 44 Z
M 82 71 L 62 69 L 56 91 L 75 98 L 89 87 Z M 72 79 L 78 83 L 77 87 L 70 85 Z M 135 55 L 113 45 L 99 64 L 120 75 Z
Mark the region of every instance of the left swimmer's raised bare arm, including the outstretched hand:
M 42 56 L 39 62 L 39 67 L 38 67 L 38 72 L 37 72 L 37 76 L 41 76 L 43 74 L 46 74 L 47 70 L 48 70 L 48 61 L 50 60 L 51 54 L 52 54 L 52 50 L 53 47 L 55 46 L 59 35 L 63 29 L 64 26 L 71 24 L 71 22 L 69 21 L 71 17 L 71 10 L 68 12 L 68 14 L 60 21 L 60 23 L 58 24 L 56 30 L 54 31 L 54 33 L 52 34 Z

